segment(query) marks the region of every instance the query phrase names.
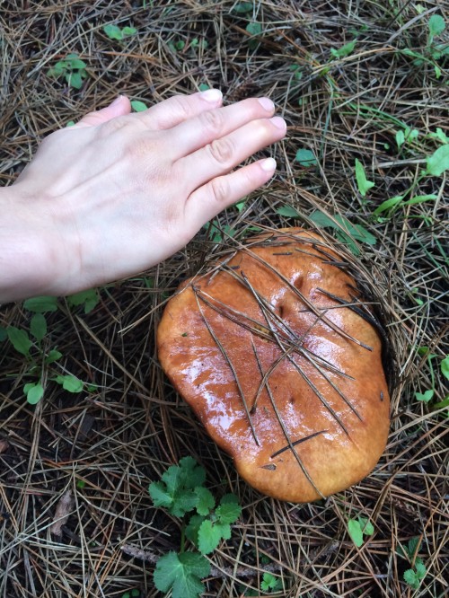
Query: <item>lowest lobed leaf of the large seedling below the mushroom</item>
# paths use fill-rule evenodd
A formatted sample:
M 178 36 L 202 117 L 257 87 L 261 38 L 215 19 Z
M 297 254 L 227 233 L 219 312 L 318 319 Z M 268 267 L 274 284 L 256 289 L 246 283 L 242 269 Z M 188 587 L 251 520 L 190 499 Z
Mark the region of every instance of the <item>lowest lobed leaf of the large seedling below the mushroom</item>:
M 154 585 L 160 592 L 172 589 L 172 598 L 198 598 L 204 592 L 202 577 L 210 573 L 210 564 L 198 552 L 168 552 L 154 569 Z

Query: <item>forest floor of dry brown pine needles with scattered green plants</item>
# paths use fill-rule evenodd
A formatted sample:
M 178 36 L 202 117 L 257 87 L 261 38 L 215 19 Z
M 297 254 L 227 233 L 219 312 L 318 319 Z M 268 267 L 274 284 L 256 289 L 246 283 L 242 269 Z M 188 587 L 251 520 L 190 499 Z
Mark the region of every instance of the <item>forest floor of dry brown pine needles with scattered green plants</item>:
M 0 595 L 163 595 L 154 580 L 173 596 L 447 595 L 445 8 L 2 3 L 2 185 L 43 136 L 119 93 L 135 110 L 212 86 L 225 101 L 267 95 L 288 135 L 264 153 L 278 164 L 269 186 L 163 264 L 83 295 L 2 306 Z M 392 347 L 381 461 L 357 486 L 310 505 L 243 483 L 155 355 L 180 281 L 254 231 L 294 225 L 327 234 L 370 274 Z M 191 516 L 209 528 L 202 540 L 198 520 L 187 531 L 185 514 L 168 508 L 170 493 L 157 506 L 148 491 L 186 457 L 204 469 L 201 485 L 186 487 L 207 513 Z M 176 579 L 161 573 L 161 558 Z

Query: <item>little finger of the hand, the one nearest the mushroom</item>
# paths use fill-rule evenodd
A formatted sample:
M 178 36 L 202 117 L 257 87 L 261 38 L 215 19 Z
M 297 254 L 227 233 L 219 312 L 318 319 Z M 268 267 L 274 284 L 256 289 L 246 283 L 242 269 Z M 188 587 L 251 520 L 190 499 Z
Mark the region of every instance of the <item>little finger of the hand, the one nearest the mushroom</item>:
M 243 166 L 237 171 L 209 180 L 193 191 L 187 200 L 185 221 L 195 233 L 225 207 L 232 206 L 251 191 L 258 189 L 273 176 L 276 160 L 265 158 Z

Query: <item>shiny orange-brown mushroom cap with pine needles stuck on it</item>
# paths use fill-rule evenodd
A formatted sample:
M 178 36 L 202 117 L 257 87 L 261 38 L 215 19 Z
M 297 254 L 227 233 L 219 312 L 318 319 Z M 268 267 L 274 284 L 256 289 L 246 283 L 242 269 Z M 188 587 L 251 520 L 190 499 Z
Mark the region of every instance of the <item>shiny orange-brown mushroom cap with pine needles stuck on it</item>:
M 342 260 L 301 229 L 253 237 L 185 281 L 158 328 L 172 384 L 270 497 L 308 502 L 348 488 L 386 444 L 381 338 Z

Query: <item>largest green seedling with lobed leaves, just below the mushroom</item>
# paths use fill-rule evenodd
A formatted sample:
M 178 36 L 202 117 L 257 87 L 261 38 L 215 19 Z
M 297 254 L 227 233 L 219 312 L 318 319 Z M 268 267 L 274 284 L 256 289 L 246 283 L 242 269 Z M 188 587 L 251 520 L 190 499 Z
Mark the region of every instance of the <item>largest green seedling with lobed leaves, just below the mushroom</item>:
M 165 508 L 182 521 L 180 552 L 170 551 L 159 558 L 154 585 L 161 592 L 172 589 L 172 598 L 198 598 L 204 592 L 201 579 L 208 576 L 210 563 L 205 554 L 216 550 L 222 540 L 231 538 L 231 524 L 242 513 L 238 498 L 216 497 L 204 486 L 206 471 L 192 457 L 180 459 L 166 470 L 160 481 L 148 488 L 154 506 Z M 189 521 L 186 514 L 190 514 Z M 188 539 L 197 550 L 185 551 Z

